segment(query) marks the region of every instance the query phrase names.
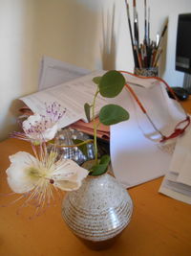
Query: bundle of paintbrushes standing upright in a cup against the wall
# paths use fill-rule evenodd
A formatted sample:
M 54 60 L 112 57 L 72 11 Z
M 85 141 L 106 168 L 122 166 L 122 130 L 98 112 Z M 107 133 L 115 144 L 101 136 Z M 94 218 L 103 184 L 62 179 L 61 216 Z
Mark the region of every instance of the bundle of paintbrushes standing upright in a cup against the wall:
M 162 38 L 167 29 L 167 23 L 165 24 L 161 35 L 157 35 L 156 41 L 150 39 L 150 8 L 147 9 L 146 0 L 144 0 L 144 38 L 143 42 L 139 43 L 139 32 L 138 32 L 138 12 L 136 0 L 133 1 L 133 18 L 134 26 L 132 29 L 129 4 L 125 0 L 127 8 L 127 18 L 129 31 L 131 36 L 131 44 L 135 61 L 135 69 L 152 69 L 157 68 L 159 63 L 159 57 L 162 53 L 161 42 Z

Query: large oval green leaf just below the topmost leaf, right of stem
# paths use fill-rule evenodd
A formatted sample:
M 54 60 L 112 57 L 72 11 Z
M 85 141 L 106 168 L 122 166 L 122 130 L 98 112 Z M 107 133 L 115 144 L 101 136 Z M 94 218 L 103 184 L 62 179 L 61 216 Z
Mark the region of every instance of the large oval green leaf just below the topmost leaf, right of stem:
M 129 113 L 119 105 L 104 105 L 99 112 L 99 121 L 105 126 L 115 125 L 129 119 Z

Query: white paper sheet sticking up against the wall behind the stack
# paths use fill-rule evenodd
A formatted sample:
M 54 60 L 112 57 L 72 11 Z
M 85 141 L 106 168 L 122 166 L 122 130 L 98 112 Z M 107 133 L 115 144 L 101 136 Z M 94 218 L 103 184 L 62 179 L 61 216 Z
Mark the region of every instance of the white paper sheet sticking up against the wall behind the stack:
M 40 64 L 38 89 L 43 90 L 66 81 L 72 81 L 90 72 L 90 70 L 45 56 Z

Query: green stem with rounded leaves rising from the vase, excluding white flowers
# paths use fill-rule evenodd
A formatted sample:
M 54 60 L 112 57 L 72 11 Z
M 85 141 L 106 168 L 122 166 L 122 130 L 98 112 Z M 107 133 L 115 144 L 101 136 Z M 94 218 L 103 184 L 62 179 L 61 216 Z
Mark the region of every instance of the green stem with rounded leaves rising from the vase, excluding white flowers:
M 97 152 L 97 138 L 96 130 L 100 123 L 105 126 L 115 125 L 122 121 L 129 119 L 129 113 L 120 105 L 104 105 L 99 111 L 99 122 L 96 124 L 96 98 L 98 94 L 105 98 L 115 98 L 123 89 L 125 85 L 125 79 L 123 75 L 116 70 L 106 72 L 102 77 L 96 77 L 93 79 L 96 84 L 96 93 L 94 96 L 93 103 L 90 105 L 86 103 L 84 105 L 87 119 L 93 120 L 94 123 L 94 148 L 95 148 L 95 160 L 93 165 L 89 169 L 89 175 L 102 175 L 107 172 L 108 165 L 110 163 L 110 156 L 103 155 L 98 159 Z M 85 153 L 86 142 L 74 141 L 76 146 Z

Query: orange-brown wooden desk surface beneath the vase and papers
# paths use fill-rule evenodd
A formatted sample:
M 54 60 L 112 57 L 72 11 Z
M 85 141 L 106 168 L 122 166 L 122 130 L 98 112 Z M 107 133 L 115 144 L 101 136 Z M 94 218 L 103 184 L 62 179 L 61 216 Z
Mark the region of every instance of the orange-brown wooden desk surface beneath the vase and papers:
M 9 191 L 5 170 L 8 156 L 31 151 L 26 142 L 0 143 L 0 193 Z M 162 178 L 129 189 L 134 201 L 132 221 L 111 248 L 92 251 L 74 237 L 61 217 L 58 203 L 40 217 L 16 214 L 17 205 L 0 208 L 1 256 L 189 256 L 191 255 L 191 205 L 158 193 Z M 0 205 L 11 196 L 0 196 Z

